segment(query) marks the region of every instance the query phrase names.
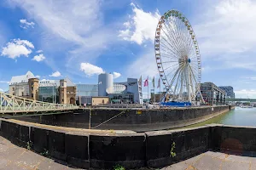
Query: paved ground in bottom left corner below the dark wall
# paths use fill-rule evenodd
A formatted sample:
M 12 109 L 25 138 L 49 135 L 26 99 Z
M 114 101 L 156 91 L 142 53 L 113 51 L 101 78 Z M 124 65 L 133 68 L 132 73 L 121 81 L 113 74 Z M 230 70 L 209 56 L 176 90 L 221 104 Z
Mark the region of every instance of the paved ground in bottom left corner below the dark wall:
M 20 148 L 0 136 L 0 170 L 72 170 L 65 162 L 40 156 L 25 148 Z

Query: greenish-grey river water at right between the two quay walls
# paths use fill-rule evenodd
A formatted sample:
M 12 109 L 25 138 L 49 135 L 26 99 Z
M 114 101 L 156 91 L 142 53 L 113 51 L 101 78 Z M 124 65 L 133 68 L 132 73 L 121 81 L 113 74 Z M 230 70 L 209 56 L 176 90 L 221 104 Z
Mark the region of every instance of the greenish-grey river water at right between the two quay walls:
M 241 108 L 236 106 L 235 110 L 228 111 L 220 116 L 215 116 L 205 122 L 200 122 L 188 127 L 199 127 L 211 123 L 256 127 L 256 108 Z

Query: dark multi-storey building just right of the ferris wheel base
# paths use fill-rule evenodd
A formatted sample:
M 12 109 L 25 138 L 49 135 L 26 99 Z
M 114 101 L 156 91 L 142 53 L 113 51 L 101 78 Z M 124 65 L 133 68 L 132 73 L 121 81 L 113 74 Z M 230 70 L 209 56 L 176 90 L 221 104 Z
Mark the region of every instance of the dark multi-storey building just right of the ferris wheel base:
M 212 82 L 200 84 L 201 94 L 208 105 L 224 105 L 226 92 Z

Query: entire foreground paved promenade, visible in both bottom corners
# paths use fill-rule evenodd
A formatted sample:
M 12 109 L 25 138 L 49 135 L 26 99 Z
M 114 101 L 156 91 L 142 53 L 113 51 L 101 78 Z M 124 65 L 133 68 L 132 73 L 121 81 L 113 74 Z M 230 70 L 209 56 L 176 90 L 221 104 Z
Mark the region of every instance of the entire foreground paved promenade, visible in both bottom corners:
M 0 136 L 0 169 L 8 170 L 74 170 L 64 161 L 41 156 L 20 148 Z M 199 156 L 180 161 L 160 170 L 256 170 L 256 157 L 234 156 L 207 151 Z M 140 170 L 148 170 L 143 168 Z

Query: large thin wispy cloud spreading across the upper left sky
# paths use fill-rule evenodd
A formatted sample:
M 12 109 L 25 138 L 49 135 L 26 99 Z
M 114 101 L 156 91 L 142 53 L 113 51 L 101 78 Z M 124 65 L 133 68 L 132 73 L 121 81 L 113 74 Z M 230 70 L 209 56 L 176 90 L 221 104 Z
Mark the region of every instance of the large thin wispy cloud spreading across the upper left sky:
M 53 70 L 59 70 L 58 65 L 61 60 L 65 62 L 67 72 L 79 74 L 80 63 L 85 59 L 90 63 L 96 62 L 102 51 L 117 42 L 116 30 L 113 29 L 117 28 L 119 23 L 112 22 L 106 25 L 103 18 L 106 9 L 104 6 L 109 2 L 101 0 L 90 0 L 86 3 L 80 0 L 9 0 L 8 2 L 10 7 L 20 8 L 30 19 L 38 23 L 38 29 L 43 32 L 38 35 L 40 48 L 44 48 L 44 51 L 49 53 L 57 50 L 64 52 L 61 57 L 47 59 L 46 64 Z M 112 5 L 115 6 L 117 3 Z

